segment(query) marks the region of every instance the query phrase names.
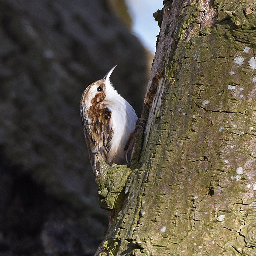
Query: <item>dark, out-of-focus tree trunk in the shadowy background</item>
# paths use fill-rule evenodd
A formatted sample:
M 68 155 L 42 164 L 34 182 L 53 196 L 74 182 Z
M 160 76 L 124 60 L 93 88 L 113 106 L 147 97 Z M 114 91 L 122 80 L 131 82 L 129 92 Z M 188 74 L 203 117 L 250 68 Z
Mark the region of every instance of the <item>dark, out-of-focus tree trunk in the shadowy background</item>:
M 139 116 L 148 66 L 113 6 L 0 2 L 0 255 L 93 255 L 103 238 L 80 97 L 118 64 L 113 84 Z

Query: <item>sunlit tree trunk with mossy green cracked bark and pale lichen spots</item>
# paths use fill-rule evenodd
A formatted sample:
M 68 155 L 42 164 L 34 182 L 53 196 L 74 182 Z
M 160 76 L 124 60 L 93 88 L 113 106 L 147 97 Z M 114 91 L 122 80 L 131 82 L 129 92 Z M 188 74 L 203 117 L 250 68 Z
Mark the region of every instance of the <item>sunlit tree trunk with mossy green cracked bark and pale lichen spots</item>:
M 146 127 L 96 254 L 256 255 L 255 8 L 164 1 Z

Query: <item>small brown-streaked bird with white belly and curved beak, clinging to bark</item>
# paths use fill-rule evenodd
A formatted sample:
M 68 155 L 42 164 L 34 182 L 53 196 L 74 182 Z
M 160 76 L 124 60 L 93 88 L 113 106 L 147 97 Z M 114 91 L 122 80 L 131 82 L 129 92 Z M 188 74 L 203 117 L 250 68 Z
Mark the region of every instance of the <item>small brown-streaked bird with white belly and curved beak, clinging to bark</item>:
M 116 66 L 103 79 L 90 84 L 82 93 L 80 101 L 84 135 L 94 169 L 96 152 L 101 153 L 108 165 L 125 165 L 132 157 L 135 141 L 132 136 L 138 117 L 133 107 L 110 82 Z

